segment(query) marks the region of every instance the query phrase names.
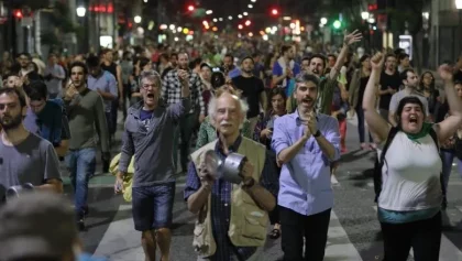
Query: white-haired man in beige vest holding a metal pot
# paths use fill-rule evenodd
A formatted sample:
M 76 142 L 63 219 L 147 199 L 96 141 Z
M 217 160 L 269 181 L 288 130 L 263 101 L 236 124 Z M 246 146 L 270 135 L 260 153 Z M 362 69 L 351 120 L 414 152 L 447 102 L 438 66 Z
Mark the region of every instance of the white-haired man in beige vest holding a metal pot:
M 218 140 L 191 154 L 185 188 L 198 214 L 194 242 L 198 260 L 258 260 L 278 189 L 274 156 L 241 135 L 248 106 L 223 93 L 209 104 Z

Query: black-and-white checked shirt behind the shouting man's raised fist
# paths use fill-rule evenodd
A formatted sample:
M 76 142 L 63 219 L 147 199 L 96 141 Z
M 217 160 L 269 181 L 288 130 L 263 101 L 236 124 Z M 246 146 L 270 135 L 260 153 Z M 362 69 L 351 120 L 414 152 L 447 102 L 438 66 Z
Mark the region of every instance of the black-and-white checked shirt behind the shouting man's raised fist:
M 206 115 L 206 107 L 202 100 L 202 80 L 199 75 L 193 72 L 189 73 L 189 89 L 191 91 L 191 110 L 193 113 L 200 107 L 200 113 Z M 172 69 L 168 72 L 162 81 L 162 98 L 167 105 L 175 105 L 182 100 L 182 84 L 178 77 L 178 70 Z

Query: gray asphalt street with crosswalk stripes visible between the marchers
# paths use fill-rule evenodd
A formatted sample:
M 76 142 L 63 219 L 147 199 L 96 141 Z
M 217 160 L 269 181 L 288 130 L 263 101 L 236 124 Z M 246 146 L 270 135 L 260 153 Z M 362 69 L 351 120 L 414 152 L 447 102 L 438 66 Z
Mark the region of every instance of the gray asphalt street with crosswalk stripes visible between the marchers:
M 332 180 L 336 206 L 332 211 L 327 261 L 374 261 L 383 259 L 383 242 L 376 208 L 373 202 L 372 166 L 374 153 L 361 151 L 355 119 L 348 124 L 348 152 Z M 113 153 L 120 148 L 114 146 Z M 101 170 L 100 165 L 97 170 Z M 63 173 L 67 175 L 66 172 Z M 113 177 L 98 173 L 92 180 L 88 200 L 90 214 L 86 220 L 87 231 L 80 233 L 85 250 L 109 260 L 144 260 L 140 244 L 141 235 L 134 231 L 131 204 L 113 193 Z M 172 258 L 175 261 L 196 260 L 191 247 L 195 216 L 188 213 L 183 200 L 185 177 L 178 176 L 174 205 Z M 66 192 L 73 196 L 68 185 Z M 462 261 L 462 180 L 455 172 L 449 183 L 449 206 L 444 213 L 444 231 L 440 260 Z M 264 250 L 265 261 L 283 257 L 280 241 L 268 239 Z M 411 258 L 411 253 L 409 260 Z

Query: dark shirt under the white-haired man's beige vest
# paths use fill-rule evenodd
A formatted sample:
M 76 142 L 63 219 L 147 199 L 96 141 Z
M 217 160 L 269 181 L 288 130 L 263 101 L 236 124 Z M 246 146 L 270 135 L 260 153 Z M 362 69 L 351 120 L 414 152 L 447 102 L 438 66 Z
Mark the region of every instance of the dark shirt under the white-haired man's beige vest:
M 230 153 L 237 152 L 239 145 L 242 141 L 242 138 L 239 137 L 234 142 L 234 145 L 229 148 Z M 215 151 L 224 161 L 226 155 L 223 154 L 220 143 L 217 142 Z M 266 188 L 274 197 L 277 197 L 277 192 L 279 188 L 278 183 L 278 172 L 276 166 L 276 161 L 274 156 L 266 151 L 265 165 L 262 171 L 260 185 Z M 200 178 L 197 175 L 196 166 L 194 162 L 189 163 L 188 176 L 186 180 L 185 188 L 185 200 L 188 199 L 190 195 L 196 193 L 201 186 Z M 217 251 L 211 261 L 231 261 L 237 254 L 239 254 L 238 260 L 248 260 L 252 254 L 255 253 L 256 247 L 235 247 L 232 244 L 230 238 L 228 237 L 228 230 L 230 227 L 231 218 L 231 191 L 232 184 L 224 180 L 217 180 L 213 183 L 211 191 L 211 221 L 212 221 L 212 231 L 213 238 L 217 242 Z

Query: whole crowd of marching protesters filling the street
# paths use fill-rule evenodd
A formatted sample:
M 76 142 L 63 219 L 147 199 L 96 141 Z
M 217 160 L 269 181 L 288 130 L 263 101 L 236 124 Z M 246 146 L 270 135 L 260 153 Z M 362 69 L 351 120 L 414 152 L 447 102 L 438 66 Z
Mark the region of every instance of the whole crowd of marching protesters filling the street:
M 157 248 L 161 260 L 170 260 L 178 175 L 186 175 L 184 199 L 197 215 L 193 246 L 198 260 L 260 260 L 267 237 L 282 238 L 285 261 L 323 260 L 333 207 L 331 175 L 348 152 L 346 119 L 353 115 L 358 146 L 377 152 L 374 185 L 385 260 L 407 260 L 410 248 L 417 261 L 438 260 L 448 178 L 453 157 L 462 160 L 462 57 L 453 67 L 439 68 L 440 88 L 431 72 L 419 79 L 409 55 L 399 50 L 359 56 L 352 46 L 361 39 L 356 31 L 345 34 L 342 46 L 328 55 L 300 44 L 268 47 L 252 41 L 221 52 L 215 45 L 202 52 L 161 45 L 148 52 L 103 48 L 68 61 L 51 53 L 47 64 L 28 53 L 15 62 L 6 54 L 0 250 L 7 250 L 0 260 L 37 260 L 40 254 L 72 260 L 63 258 L 75 254 L 70 250 L 78 243 L 69 222 L 86 229 L 88 183 L 98 154 L 102 172 L 116 175 L 114 192 L 130 194 L 124 198 L 132 203 L 146 260 L 156 260 Z M 119 110 L 124 120 L 120 151 L 114 149 Z M 120 153 L 111 155 L 111 148 Z M 209 151 L 222 161 L 231 153 L 244 155 L 242 183 L 210 168 Z M 74 189 L 73 215 L 51 194 L 8 200 L 9 188 L 24 184 L 37 194 L 62 194 L 59 161 Z M 24 215 L 28 222 L 26 215 L 38 215 L 21 209 L 41 198 L 47 200 L 43 211 L 63 216 L 56 226 L 70 229 L 62 248 L 69 251 L 6 247 L 16 240 L 10 237 L 13 219 Z M 53 224 L 42 227 L 44 219 L 34 220 L 44 233 L 42 243 L 61 232 L 50 231 Z

